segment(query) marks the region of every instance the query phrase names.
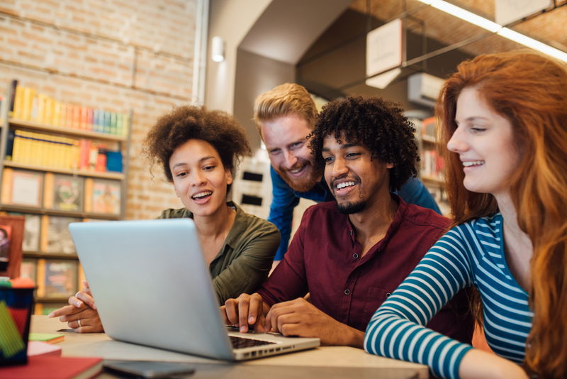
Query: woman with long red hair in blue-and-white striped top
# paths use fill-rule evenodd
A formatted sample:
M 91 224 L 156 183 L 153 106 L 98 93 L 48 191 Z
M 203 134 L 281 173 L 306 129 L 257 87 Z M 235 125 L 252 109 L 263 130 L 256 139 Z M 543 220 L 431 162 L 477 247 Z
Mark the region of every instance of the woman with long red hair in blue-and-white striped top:
M 443 378 L 566 378 L 566 66 L 478 56 L 447 79 L 437 116 L 454 227 L 376 311 L 366 351 Z M 422 326 L 464 287 L 495 354 Z

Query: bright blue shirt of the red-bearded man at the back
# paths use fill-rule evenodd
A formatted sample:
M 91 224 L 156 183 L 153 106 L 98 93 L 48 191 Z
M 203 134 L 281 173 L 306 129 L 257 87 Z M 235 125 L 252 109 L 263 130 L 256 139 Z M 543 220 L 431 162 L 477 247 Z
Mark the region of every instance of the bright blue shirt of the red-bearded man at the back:
M 270 166 L 271 175 L 271 205 L 268 221 L 274 224 L 281 234 L 278 251 L 274 260 L 282 260 L 283 254 L 288 250 L 289 237 L 291 234 L 291 220 L 293 219 L 293 208 L 299 204 L 299 199 L 310 199 L 314 202 L 330 202 L 334 201 L 325 178 L 322 178 L 315 187 L 307 192 L 296 192 L 283 181 L 281 176 Z M 422 182 L 415 177 L 411 177 L 408 182 L 403 185 L 398 194 L 406 203 L 416 204 L 420 207 L 433 209 L 441 214 L 437 203 L 431 196 Z

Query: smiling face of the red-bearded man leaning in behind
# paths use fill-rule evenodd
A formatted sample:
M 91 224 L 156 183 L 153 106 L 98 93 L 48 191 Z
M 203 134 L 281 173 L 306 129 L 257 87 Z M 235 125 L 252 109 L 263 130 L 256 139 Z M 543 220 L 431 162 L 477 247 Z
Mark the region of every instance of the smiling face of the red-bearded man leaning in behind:
M 293 190 L 305 192 L 321 179 L 315 169 L 306 137 L 311 133 L 305 119 L 295 114 L 262 121 L 262 139 L 274 170 Z

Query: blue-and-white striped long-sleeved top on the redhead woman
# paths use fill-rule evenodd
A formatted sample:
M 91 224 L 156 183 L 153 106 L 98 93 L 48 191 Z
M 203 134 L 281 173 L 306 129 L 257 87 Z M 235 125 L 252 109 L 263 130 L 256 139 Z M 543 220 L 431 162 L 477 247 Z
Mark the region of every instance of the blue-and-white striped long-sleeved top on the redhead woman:
M 423 325 L 456 292 L 474 285 L 481 293 L 490 348 L 521 363 L 534 314 L 527 292 L 506 263 L 502 222 L 499 213 L 468 221 L 439 239 L 372 317 L 366 351 L 425 364 L 442 378 L 458 378 L 461 359 L 472 347 Z

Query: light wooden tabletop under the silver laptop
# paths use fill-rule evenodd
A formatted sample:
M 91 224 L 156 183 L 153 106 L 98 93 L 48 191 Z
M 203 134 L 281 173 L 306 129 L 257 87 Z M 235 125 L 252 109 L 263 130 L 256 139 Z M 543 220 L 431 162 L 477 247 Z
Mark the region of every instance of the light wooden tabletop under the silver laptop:
M 67 324 L 47 316 L 33 316 L 31 331 L 56 333 Z M 322 346 L 306 351 L 267 358 L 230 363 L 189 356 L 184 353 L 150 348 L 126 342 L 114 341 L 103 333 L 78 334 L 62 332 L 60 342 L 63 356 L 97 356 L 104 359 L 134 361 L 176 361 L 196 365 L 191 378 L 391 378 L 410 379 L 429 377 L 427 366 L 395 359 L 373 356 L 359 348 L 347 346 Z M 100 378 L 116 378 L 103 374 Z

